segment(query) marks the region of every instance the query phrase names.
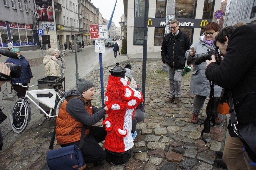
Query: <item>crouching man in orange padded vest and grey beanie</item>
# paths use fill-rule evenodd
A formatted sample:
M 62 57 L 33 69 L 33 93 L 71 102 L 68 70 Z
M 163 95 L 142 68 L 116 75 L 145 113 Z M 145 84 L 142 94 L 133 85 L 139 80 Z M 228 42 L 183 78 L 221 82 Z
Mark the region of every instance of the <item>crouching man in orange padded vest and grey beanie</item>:
M 108 109 L 105 104 L 101 108 L 92 106 L 94 85 L 79 78 L 77 90 L 66 92 L 66 100 L 59 109 L 56 119 L 56 139 L 61 147 L 80 143 L 83 125 L 86 126 L 84 145 L 81 149 L 86 163 L 101 163 L 106 153 L 98 144 L 105 140 L 107 132 L 104 127 L 93 126 L 101 120 Z

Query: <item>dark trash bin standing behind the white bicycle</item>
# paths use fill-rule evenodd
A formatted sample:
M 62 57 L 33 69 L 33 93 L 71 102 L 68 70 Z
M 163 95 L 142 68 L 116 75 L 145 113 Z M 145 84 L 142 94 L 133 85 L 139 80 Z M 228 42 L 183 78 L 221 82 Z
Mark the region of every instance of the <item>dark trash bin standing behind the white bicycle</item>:
M 59 76 L 45 76 L 41 79 L 37 80 L 37 85 L 38 85 L 38 89 L 47 89 L 47 88 L 51 88 L 49 86 L 50 83 L 64 83 L 63 86 L 63 90 L 65 91 L 65 77 L 61 78 Z M 48 108 L 47 106 L 45 106 L 44 104 L 39 102 L 39 106 L 44 109 L 45 112 L 47 112 L 48 110 L 50 110 L 50 108 Z M 40 109 L 40 114 L 44 114 L 44 112 L 42 112 Z

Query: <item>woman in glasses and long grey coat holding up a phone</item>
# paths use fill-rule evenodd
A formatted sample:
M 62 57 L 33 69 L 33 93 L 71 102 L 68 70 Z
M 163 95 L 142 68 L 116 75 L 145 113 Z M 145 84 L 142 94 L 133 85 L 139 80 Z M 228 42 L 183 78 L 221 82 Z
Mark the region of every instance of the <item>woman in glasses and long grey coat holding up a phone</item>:
M 217 22 L 209 22 L 205 28 L 204 33 L 201 35 L 198 42 L 193 43 L 194 52 L 190 49 L 185 53 L 187 61 L 193 63 L 193 72 L 190 82 L 190 92 L 195 94 L 193 102 L 193 115 L 191 118 L 191 123 L 198 123 L 198 115 L 205 102 L 206 97 L 210 94 L 210 83 L 205 76 L 205 63 L 200 63 L 195 65 L 195 52 L 197 54 L 207 53 L 207 49 L 213 45 L 215 36 L 219 33 L 220 26 Z M 214 85 L 214 118 L 216 124 L 221 124 L 221 120 L 218 118 L 217 108 L 219 103 L 219 97 L 222 88 Z

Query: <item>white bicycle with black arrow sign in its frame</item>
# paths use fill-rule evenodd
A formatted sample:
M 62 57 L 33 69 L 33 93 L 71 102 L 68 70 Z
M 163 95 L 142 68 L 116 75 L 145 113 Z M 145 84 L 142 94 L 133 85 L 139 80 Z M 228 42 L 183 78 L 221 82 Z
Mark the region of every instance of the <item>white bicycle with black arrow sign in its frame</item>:
M 65 100 L 65 92 L 63 91 L 62 84 L 49 84 L 49 86 L 52 88 L 31 91 L 29 91 L 29 88 L 37 85 L 23 86 L 21 83 L 12 84 L 27 88 L 25 97 L 21 97 L 20 99 L 16 100 L 14 106 L 12 107 L 10 119 L 12 130 L 15 133 L 23 132 L 30 122 L 31 109 L 28 99 L 44 113 L 46 117 L 44 121 L 47 119 L 52 121 L 58 116 L 59 108 Z M 35 103 L 35 101 L 29 97 L 28 94 L 32 95 L 36 100 L 49 107 L 50 111 L 44 111 L 44 109 Z M 37 127 L 41 126 L 44 121 L 38 124 Z

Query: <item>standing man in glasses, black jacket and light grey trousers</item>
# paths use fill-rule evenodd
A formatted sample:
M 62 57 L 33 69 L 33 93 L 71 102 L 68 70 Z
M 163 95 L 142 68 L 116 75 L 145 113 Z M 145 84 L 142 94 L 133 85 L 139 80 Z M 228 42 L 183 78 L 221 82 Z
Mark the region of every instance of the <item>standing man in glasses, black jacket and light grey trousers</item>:
M 185 67 L 185 52 L 190 47 L 188 35 L 179 30 L 179 21 L 173 19 L 170 23 L 170 33 L 163 38 L 162 61 L 166 64 L 169 79 L 170 94 L 165 103 L 179 103 L 181 95 L 182 70 Z

